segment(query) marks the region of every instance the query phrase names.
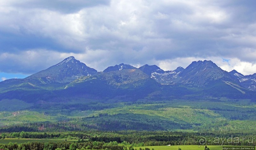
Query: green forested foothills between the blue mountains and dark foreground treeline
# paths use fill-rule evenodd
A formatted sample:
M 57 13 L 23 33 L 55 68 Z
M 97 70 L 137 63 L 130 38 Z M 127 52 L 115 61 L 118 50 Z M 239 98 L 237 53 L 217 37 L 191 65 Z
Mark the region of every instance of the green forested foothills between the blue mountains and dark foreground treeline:
M 113 101 L 115 100 L 102 102 L 72 100 L 69 103 L 37 104 L 38 107 L 28 106 L 20 111 L 11 111 L 18 106 L 6 108 L 8 110 L 0 112 L 2 125 L 0 132 L 1 130 L 18 132 L 19 129 L 13 128 L 12 124 L 39 131 L 38 124 L 33 125 L 36 122 L 44 124 L 44 131 L 85 129 L 176 131 L 182 129 L 195 132 L 244 133 L 256 129 L 256 105 L 248 99 L 169 101 L 141 99 L 137 102 L 120 103 L 113 103 Z M 18 100 L 15 102 L 18 103 Z M 30 122 L 33 123 L 30 124 Z

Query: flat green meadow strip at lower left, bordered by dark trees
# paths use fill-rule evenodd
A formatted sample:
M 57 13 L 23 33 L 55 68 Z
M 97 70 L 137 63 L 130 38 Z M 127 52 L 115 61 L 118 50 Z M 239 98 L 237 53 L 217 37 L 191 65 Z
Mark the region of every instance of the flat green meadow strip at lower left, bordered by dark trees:
M 26 142 L 64 142 L 65 140 L 59 139 L 0 139 L 0 144 L 9 144 L 12 143 L 26 143 Z M 67 140 L 67 141 L 77 141 L 77 140 Z

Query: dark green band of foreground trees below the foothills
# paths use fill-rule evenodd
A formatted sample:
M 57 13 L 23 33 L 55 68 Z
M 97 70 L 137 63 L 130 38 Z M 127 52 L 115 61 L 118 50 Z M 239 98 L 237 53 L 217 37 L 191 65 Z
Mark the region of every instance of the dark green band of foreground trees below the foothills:
M 132 147 L 141 146 L 165 146 L 165 145 L 198 145 L 200 137 L 207 139 L 208 145 L 245 145 L 253 146 L 256 143 L 255 133 L 232 133 L 232 132 L 170 132 L 170 131 L 67 131 L 67 132 L 10 132 L 1 133 L 0 139 L 5 138 L 31 138 L 31 139 L 77 139 L 78 143 L 99 142 L 104 143 L 115 142 L 118 144 L 130 145 Z M 230 142 L 228 138 L 239 137 L 240 141 Z M 216 143 L 219 138 L 219 143 Z M 224 141 L 221 139 L 225 139 Z M 242 139 L 246 139 L 241 141 Z M 253 141 L 254 139 L 254 141 Z M 234 139 L 238 140 L 238 139 Z M 99 146 L 102 149 L 102 146 Z M 93 146 L 92 146 L 93 147 Z M 91 148 L 92 148 L 91 147 Z M 111 149 L 110 147 L 103 147 Z M 115 147 L 116 149 L 117 147 Z

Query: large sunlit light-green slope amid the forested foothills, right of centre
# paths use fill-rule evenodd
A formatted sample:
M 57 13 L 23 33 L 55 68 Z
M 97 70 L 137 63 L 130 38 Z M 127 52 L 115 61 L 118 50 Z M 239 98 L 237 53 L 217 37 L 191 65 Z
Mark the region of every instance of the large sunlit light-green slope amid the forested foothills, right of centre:
M 162 106 L 160 106 L 162 107 Z M 173 108 L 164 107 L 157 108 L 157 105 L 136 105 L 113 108 L 108 110 L 98 111 L 99 113 L 122 114 L 141 114 L 154 117 L 161 117 L 171 121 L 180 121 L 186 123 L 204 123 L 202 120 L 225 120 L 220 114 L 207 109 L 192 109 L 192 108 Z

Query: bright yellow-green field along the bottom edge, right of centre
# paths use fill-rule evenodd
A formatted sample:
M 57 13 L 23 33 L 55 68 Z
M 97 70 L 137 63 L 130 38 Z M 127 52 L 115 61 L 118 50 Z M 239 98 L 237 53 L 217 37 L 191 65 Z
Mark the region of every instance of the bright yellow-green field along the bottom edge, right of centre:
M 148 148 L 150 148 L 152 150 L 152 148 L 154 148 L 154 150 L 178 150 L 178 148 L 180 147 L 181 150 L 204 150 L 204 146 L 201 145 L 175 145 L 175 146 L 147 146 Z M 210 150 L 222 150 L 222 146 L 221 145 L 209 145 L 207 146 L 209 147 Z M 137 150 L 140 147 L 134 147 Z M 141 147 L 142 149 L 145 149 L 145 147 Z

